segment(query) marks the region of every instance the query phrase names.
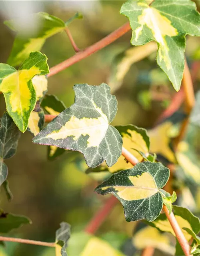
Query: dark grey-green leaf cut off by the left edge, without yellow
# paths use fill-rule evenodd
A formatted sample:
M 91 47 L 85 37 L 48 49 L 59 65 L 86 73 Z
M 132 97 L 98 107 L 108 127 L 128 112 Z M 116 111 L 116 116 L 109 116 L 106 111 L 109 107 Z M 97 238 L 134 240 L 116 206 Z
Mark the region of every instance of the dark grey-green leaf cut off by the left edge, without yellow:
M 19 138 L 20 131 L 12 118 L 5 112 L 0 126 L 0 186 L 8 176 L 8 167 L 4 163 L 4 159 L 14 156 Z

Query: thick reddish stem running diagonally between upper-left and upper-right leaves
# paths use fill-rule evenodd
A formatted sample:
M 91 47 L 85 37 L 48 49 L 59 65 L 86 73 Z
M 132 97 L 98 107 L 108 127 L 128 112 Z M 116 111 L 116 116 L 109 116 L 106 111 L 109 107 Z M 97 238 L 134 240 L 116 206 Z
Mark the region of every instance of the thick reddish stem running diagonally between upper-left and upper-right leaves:
M 108 36 L 104 37 L 102 40 L 96 42 L 95 44 L 92 44 L 85 50 L 78 52 L 71 58 L 68 58 L 67 60 L 64 60 L 63 62 L 61 62 L 60 64 L 50 68 L 50 73 L 48 74 L 48 77 L 57 74 L 58 72 L 73 65 L 74 63 L 79 62 L 80 60 L 90 56 L 94 52 L 97 52 L 98 50 L 111 44 L 112 42 L 114 42 L 115 40 L 117 40 L 118 38 L 120 38 L 121 36 L 126 34 L 126 32 L 128 32 L 130 29 L 131 29 L 130 24 L 129 24 L 129 22 L 127 22 L 126 24 L 124 24 L 123 26 L 121 26 L 120 28 L 118 28 L 117 30 L 115 30 L 114 32 L 109 34 Z

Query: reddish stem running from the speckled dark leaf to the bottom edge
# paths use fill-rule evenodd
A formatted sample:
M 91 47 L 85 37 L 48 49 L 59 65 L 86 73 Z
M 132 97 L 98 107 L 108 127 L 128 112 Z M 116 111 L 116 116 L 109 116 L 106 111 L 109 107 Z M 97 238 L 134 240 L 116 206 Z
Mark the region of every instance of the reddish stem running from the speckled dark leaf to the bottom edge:
M 163 205 L 163 210 L 170 222 L 170 225 L 172 226 L 172 228 L 174 230 L 174 233 L 176 234 L 176 238 L 177 238 L 184 254 L 186 256 L 190 256 L 190 246 L 188 244 L 188 241 L 184 237 L 184 234 L 182 233 L 182 230 L 181 230 L 180 226 L 178 225 L 178 222 L 177 222 L 173 212 L 171 214 L 169 214 L 168 208 L 165 205 Z

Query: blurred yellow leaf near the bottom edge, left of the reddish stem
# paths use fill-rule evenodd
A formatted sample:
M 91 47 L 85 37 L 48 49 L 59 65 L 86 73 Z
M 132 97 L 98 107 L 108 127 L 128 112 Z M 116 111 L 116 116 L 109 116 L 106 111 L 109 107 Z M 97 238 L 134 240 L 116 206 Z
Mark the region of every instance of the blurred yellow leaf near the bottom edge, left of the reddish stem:
M 174 255 L 175 252 L 175 248 L 170 245 L 170 238 L 166 234 L 161 234 L 156 228 L 149 226 L 136 232 L 132 242 L 138 250 L 153 247 L 167 254 Z

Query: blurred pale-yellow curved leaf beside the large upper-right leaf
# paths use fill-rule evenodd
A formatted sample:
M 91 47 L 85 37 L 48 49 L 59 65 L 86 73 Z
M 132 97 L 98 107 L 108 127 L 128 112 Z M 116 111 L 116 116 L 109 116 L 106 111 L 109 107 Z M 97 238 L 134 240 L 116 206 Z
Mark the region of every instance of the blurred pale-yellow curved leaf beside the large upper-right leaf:
M 149 56 L 156 50 L 156 43 L 151 42 L 145 46 L 128 48 L 124 52 L 118 54 L 112 61 L 110 77 L 108 78 L 108 84 L 110 88 L 112 88 L 112 92 L 121 86 L 124 77 L 132 64 Z

